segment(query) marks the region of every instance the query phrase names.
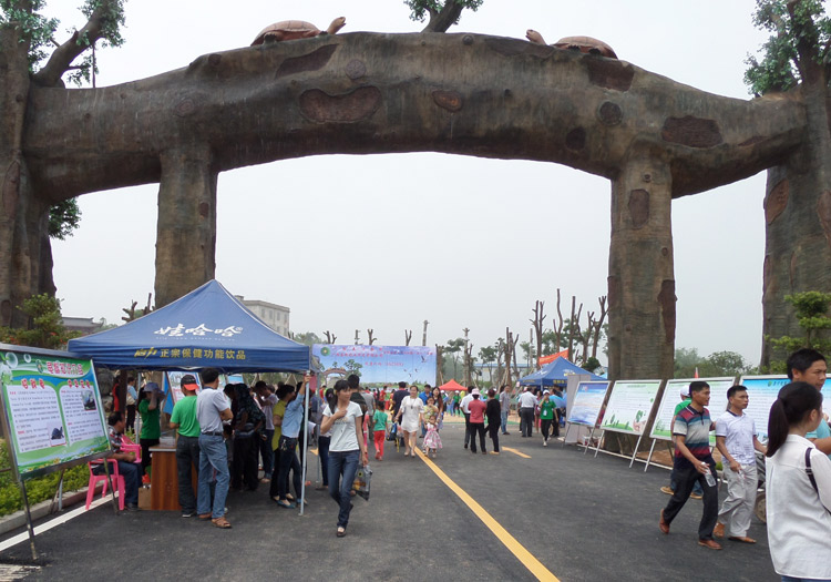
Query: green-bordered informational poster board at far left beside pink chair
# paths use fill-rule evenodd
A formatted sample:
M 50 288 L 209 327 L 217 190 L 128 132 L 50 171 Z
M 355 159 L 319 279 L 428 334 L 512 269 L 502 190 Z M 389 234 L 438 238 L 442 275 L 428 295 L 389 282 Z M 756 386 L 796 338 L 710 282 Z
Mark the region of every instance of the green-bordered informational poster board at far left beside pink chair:
M 14 469 L 34 477 L 110 449 L 92 361 L 0 345 L 0 390 Z

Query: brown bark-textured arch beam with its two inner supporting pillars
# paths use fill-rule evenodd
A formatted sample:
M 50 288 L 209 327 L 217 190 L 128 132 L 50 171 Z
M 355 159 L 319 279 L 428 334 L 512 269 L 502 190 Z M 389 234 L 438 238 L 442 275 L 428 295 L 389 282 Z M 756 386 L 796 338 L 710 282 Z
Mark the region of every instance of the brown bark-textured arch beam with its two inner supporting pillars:
M 23 94 L 24 157 L 3 175 L 31 176 L 27 195 L 37 192 L 42 207 L 161 182 L 162 306 L 213 276 L 220 171 L 417 151 L 566 164 L 615 183 L 612 377 L 655 377 L 673 361 L 671 198 L 787 163 L 806 132 L 799 99 L 721 98 L 624 61 L 516 39 L 324 35 L 207 54 L 116 86 L 32 86 Z M 10 192 L 12 201 L 21 190 Z M 188 221 L 198 224 L 183 232 Z M 0 239 L 8 236 L 7 221 Z M 0 254 L 0 269 L 19 284 L 13 290 L 0 278 L 0 302 L 37 290 L 31 255 L 9 256 Z

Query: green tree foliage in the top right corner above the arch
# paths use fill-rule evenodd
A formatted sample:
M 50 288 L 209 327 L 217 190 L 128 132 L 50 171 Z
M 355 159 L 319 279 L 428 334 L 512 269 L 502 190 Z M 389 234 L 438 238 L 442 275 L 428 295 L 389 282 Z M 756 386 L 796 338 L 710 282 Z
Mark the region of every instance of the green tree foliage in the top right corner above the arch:
M 757 0 L 753 24 L 771 35 L 762 44 L 760 60 L 748 55 L 745 61 L 745 83 L 753 94 L 787 91 L 802 82 L 804 54 L 829 65 L 831 19 L 823 4 L 822 0 Z

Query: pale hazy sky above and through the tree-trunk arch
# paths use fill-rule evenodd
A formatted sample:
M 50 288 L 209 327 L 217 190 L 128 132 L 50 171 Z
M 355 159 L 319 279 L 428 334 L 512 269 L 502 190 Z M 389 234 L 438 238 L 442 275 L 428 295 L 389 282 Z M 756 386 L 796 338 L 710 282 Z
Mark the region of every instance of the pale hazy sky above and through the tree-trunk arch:
M 83 16 L 51 0 L 59 40 Z M 745 59 L 765 34 L 753 0 L 485 0 L 450 32 L 547 42 L 586 34 L 622 60 L 698 89 L 748 99 Z M 265 25 L 302 19 L 341 33 L 417 32 L 400 0 L 133 0 L 126 43 L 98 52 L 99 86 L 186 67 L 246 47 Z M 294 331 L 352 343 L 373 328 L 443 344 L 470 328 L 474 353 L 509 326 L 529 338 L 536 299 L 554 312 L 606 294 L 609 183 L 565 166 L 445 154 L 318 156 L 219 175 L 216 277 L 232 293 L 288 306 Z M 81 197 L 80 229 L 55 242 L 54 278 L 66 316 L 120 321 L 153 290 L 158 186 Z M 765 174 L 674 202 L 677 347 L 733 350 L 758 363 L 765 254 Z M 78 269 L 88 266 L 86 273 Z M 116 279 L 127 285 L 116 284 Z M 551 323 L 551 315 L 546 324 Z

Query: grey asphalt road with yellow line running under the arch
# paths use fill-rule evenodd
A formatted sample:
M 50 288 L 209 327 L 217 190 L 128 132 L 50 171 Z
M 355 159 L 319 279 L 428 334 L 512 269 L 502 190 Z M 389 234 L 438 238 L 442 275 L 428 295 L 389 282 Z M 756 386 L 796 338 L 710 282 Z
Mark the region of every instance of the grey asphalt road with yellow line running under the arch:
M 39 534 L 40 568 L 24 580 L 535 580 L 510 547 L 566 582 L 779 580 L 762 523 L 749 532 L 756 545 L 725 541 L 722 551 L 707 550 L 697 544 L 700 501 L 690 500 L 664 535 L 657 520 L 667 471 L 645 473 L 640 463 L 629 469 L 627 460 L 560 443 L 543 448 L 541 437 L 511 430 L 502 445 L 530 458 L 474 456 L 462 448 L 462 426 L 445 425 L 435 460 L 504 528 L 502 540 L 422 458 L 387 443 L 384 460 L 372 462 L 371 499 L 356 498 L 346 538 L 335 537 L 335 502 L 314 488 L 302 517 L 271 502 L 267 486 L 232 491 L 232 530 L 178 512 L 115 515 L 107 503 Z M 0 562 L 31 563 L 28 543 Z

